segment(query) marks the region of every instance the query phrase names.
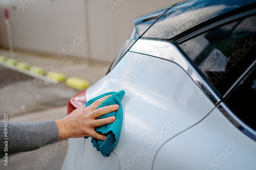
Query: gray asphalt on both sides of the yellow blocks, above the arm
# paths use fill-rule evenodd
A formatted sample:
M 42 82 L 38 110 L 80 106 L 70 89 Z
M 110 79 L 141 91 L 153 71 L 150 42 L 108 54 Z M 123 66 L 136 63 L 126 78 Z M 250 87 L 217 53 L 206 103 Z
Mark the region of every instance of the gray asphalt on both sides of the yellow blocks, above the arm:
M 9 51 L 0 49 L 0 55 L 8 57 Z M 14 52 L 14 58 L 18 62 L 27 62 L 30 66 L 43 67 L 46 71 L 60 72 L 66 77 L 89 80 L 91 84 L 102 78 L 108 69 L 106 65 L 61 60 L 25 52 Z M 57 62 L 54 66 L 53 61 Z M 9 113 L 10 117 L 67 105 L 69 99 L 78 92 L 79 90 L 67 87 L 65 83 L 46 83 L 0 65 L 0 109 Z

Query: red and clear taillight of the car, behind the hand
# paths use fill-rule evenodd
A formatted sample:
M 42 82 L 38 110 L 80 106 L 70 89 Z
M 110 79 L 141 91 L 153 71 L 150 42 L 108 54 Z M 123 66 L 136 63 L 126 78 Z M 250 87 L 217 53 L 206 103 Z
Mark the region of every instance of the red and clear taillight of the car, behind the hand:
M 85 105 L 86 105 L 86 89 L 77 93 L 69 100 L 67 115 L 73 112 L 73 110 Z

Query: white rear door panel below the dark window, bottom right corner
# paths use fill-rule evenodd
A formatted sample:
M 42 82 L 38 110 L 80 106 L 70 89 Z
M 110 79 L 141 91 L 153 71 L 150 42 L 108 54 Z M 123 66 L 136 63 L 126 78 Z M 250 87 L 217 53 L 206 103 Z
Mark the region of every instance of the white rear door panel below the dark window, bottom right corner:
M 202 122 L 166 142 L 156 155 L 153 169 L 254 170 L 255 153 L 255 141 L 216 108 Z

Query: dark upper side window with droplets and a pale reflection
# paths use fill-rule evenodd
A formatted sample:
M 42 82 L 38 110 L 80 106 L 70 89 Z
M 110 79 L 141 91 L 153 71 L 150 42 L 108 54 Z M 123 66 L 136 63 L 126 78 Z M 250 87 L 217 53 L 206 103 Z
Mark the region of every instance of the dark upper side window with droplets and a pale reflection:
M 256 58 L 256 16 L 215 28 L 179 44 L 221 95 Z

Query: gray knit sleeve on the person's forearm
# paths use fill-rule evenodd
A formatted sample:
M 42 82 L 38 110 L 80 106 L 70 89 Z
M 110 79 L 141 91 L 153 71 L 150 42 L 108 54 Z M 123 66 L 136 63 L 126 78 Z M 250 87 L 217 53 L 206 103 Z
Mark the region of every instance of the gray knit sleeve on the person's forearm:
M 0 122 L 0 155 L 5 154 L 4 122 Z M 8 154 L 36 150 L 59 137 L 54 120 L 33 123 L 8 123 Z

